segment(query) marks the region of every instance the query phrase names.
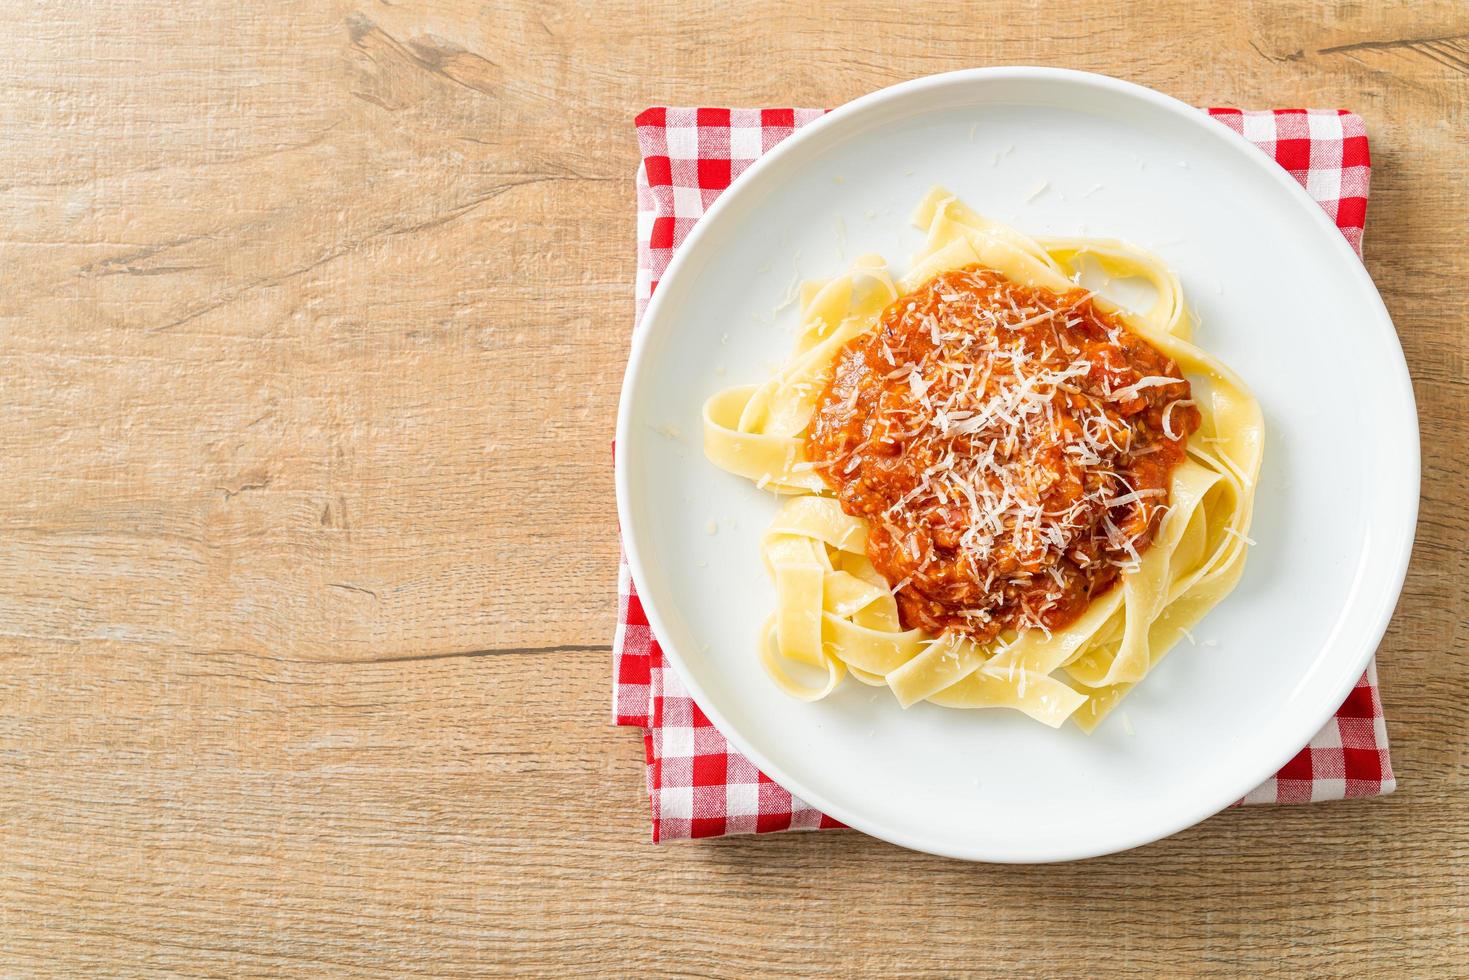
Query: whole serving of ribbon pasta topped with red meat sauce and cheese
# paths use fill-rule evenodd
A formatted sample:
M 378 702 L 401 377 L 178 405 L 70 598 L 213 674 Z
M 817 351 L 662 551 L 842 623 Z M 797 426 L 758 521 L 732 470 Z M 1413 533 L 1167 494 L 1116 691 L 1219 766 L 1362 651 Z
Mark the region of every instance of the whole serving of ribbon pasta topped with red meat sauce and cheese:
M 911 272 L 805 284 L 787 363 L 704 407 L 708 458 L 786 497 L 761 661 L 804 699 L 851 674 L 1090 732 L 1238 582 L 1259 404 L 1190 342 L 1156 256 L 1033 239 L 942 188 L 915 223 Z M 1150 309 L 1081 288 L 1084 259 Z

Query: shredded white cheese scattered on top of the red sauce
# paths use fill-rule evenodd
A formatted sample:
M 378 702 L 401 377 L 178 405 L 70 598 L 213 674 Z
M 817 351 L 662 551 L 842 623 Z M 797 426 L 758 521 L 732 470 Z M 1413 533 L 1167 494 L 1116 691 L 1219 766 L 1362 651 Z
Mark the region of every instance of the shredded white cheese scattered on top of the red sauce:
M 1084 335 L 1074 331 L 1091 316 L 1083 307 L 1090 292 L 1017 292 L 992 285 L 983 273 L 956 275 L 970 278 L 934 281 L 903 304 L 906 326 L 874 335 L 870 350 L 892 367 L 876 376 L 900 385 L 902 398 L 884 403 L 861 445 L 824 466 L 849 478 L 868 458 L 867 445 L 884 447 L 881 458 L 893 458 L 890 447 L 896 445 L 899 455 L 917 460 L 914 483 L 896 500 L 884 500 L 878 516 L 905 567 L 923 574 L 939 560 L 936 529 L 923 526 L 920 535 L 905 514 L 949 514 L 952 530 L 937 529 L 948 535 L 943 561 L 984 577 L 986 566 L 993 570 L 995 560 L 1012 555 L 1005 560 L 1019 563 L 1019 570 L 999 588 L 1014 586 L 1014 595 L 1025 597 L 1018 602 L 1021 626 L 1049 635 L 1047 614 L 1075 591 L 1075 576 L 1096 574 L 1081 572 L 1096 567 L 1089 554 L 1102 551 L 1102 563 L 1122 573 L 1140 569 L 1144 536 L 1168 513 L 1168 491 L 1133 486 L 1116 470 L 1163 447 L 1138 436 L 1130 416 L 1119 411 L 1140 392 L 1187 389 L 1187 382 L 1174 375 L 1140 376 L 1116 351 L 1087 348 Z M 1121 328 L 1102 335 L 1121 344 Z M 914 348 L 915 342 L 921 347 Z M 861 392 L 852 385 L 843 394 L 842 407 L 849 411 Z M 1175 441 L 1185 435 L 1174 417 L 1181 404 L 1191 401 L 1174 400 L 1161 422 Z M 1058 447 L 1061 461 L 1037 447 Z M 1049 508 L 1049 488 L 1061 479 L 1080 480 L 1081 492 Z M 893 594 L 909 586 L 914 574 Z M 996 595 L 993 588 L 993 576 L 986 577 L 986 594 Z M 958 616 L 980 633 L 997 629 L 996 613 L 996 607 L 975 607 Z

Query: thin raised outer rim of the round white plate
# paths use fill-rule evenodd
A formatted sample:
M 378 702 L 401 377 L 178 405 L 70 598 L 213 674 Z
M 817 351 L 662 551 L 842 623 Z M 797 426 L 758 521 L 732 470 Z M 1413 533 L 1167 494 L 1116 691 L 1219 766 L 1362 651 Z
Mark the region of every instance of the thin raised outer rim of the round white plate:
M 1066 68 L 992 66 L 992 68 L 974 68 L 974 69 L 961 69 L 953 72 L 942 72 L 936 75 L 925 75 L 903 82 L 898 82 L 893 85 L 887 85 L 884 88 L 868 93 L 859 98 L 855 98 L 837 109 L 833 109 L 820 119 L 815 119 L 811 123 L 802 126 L 801 129 L 795 131 L 790 137 L 783 140 L 780 144 L 773 147 L 770 151 L 761 154 L 754 163 L 751 163 L 749 167 L 746 167 L 746 170 L 742 173 L 742 178 L 749 178 L 754 173 L 759 173 L 764 172 L 765 169 L 777 166 L 784 156 L 793 153 L 799 145 L 805 144 L 806 141 L 817 138 L 826 129 L 831 126 L 839 126 L 846 119 L 852 116 L 859 116 L 884 103 L 900 100 L 928 88 L 937 90 L 948 85 L 986 85 L 993 82 L 1014 82 L 1014 81 L 1021 81 L 1021 82 L 1062 81 L 1080 85 L 1083 88 L 1100 88 L 1115 94 L 1130 96 L 1144 103 L 1149 103 L 1156 109 L 1171 113 L 1183 120 L 1187 120 L 1190 125 L 1208 123 L 1209 128 L 1199 126 L 1199 132 L 1213 132 L 1216 138 L 1224 143 L 1230 143 L 1231 138 L 1243 141 L 1243 137 L 1240 137 L 1238 134 L 1232 134 L 1232 131 L 1230 131 L 1228 128 L 1209 120 L 1208 115 L 1200 109 L 1196 109 L 1178 98 L 1174 98 L 1172 96 L 1166 96 L 1163 93 L 1159 93 L 1146 85 L 1140 85 L 1137 82 L 1114 78 L 1111 75 L 1102 75 L 1096 72 L 1084 72 Z M 1388 366 L 1391 369 L 1390 373 L 1394 382 L 1391 386 L 1396 388 L 1397 394 L 1404 398 L 1403 401 L 1403 407 L 1406 408 L 1406 416 L 1403 419 L 1404 428 L 1410 426 L 1413 429 L 1413 436 L 1415 436 L 1412 439 L 1406 439 L 1404 445 L 1401 447 L 1401 451 L 1406 453 L 1406 458 L 1403 461 L 1410 463 L 1410 467 L 1406 469 L 1401 473 L 1400 479 L 1397 480 L 1397 486 L 1401 488 L 1398 495 L 1406 498 L 1403 501 L 1404 517 L 1406 517 L 1404 522 L 1406 533 L 1397 542 L 1396 552 L 1391 554 L 1391 561 L 1390 561 L 1391 567 L 1388 569 L 1385 577 L 1385 583 L 1390 588 L 1387 588 L 1378 597 L 1379 608 L 1376 611 L 1375 619 L 1372 620 L 1372 627 L 1363 633 L 1359 633 L 1354 641 L 1359 645 L 1359 649 L 1356 651 L 1356 655 L 1350 661 L 1351 670 L 1346 670 L 1346 667 L 1341 667 L 1343 677 L 1338 679 L 1335 685 L 1332 685 L 1332 695 L 1327 698 L 1327 702 L 1331 707 L 1321 717 L 1316 717 L 1316 714 L 1309 716 L 1310 718 L 1313 718 L 1313 724 L 1310 724 L 1309 729 L 1304 721 L 1297 723 L 1291 729 L 1291 732 L 1307 729 L 1304 735 L 1300 738 L 1300 743 L 1296 745 L 1297 739 L 1293 735 L 1290 743 L 1294 745 L 1294 748 L 1281 752 L 1278 758 L 1272 757 L 1274 763 L 1268 768 L 1265 768 L 1265 771 L 1262 771 L 1257 777 L 1252 779 L 1252 782 L 1247 786 L 1243 786 L 1238 792 L 1231 792 L 1228 795 L 1216 793 L 1216 796 L 1221 796 L 1222 799 L 1215 799 L 1210 796 L 1203 802 L 1200 802 L 1199 805 L 1184 808 L 1185 817 L 1181 823 L 1175 820 L 1166 823 L 1161 830 L 1149 829 L 1141 833 L 1131 833 L 1131 835 L 1122 833 L 1116 836 L 1116 840 L 1105 842 L 1102 846 L 1075 846 L 1075 845 L 1068 845 L 1066 842 L 1058 842 L 1052 848 L 1039 852 L 992 851 L 984 846 L 983 839 L 977 839 L 972 846 L 948 846 L 943 845 L 942 842 L 924 840 L 915 836 L 914 833 L 906 833 L 898 829 L 881 826 L 878 821 L 870 821 L 862 814 L 852 813 L 843 804 L 833 804 L 830 799 L 826 799 L 823 793 L 812 792 L 802 783 L 802 780 L 790 777 L 790 774 L 784 771 L 783 765 L 774 763 L 762 752 L 754 751 L 752 746 L 746 742 L 746 739 L 737 730 L 730 727 L 723 713 L 718 711 L 717 707 L 714 707 L 715 702 L 708 698 L 705 689 L 692 676 L 690 670 L 686 667 L 683 657 L 677 651 L 677 648 L 671 642 L 660 639 L 660 646 L 664 651 L 667 664 L 677 671 L 679 677 L 683 680 L 689 692 L 689 696 L 693 698 L 693 701 L 699 705 L 699 708 L 704 711 L 708 720 L 736 749 L 739 749 L 761 771 L 774 779 L 780 786 L 783 786 L 798 798 L 804 799 L 809 805 L 815 807 L 821 813 L 840 820 L 842 823 L 848 824 L 855 830 L 861 830 L 868 836 L 878 837 L 881 840 L 887 840 L 889 843 L 896 843 L 899 846 L 909 848 L 914 851 L 923 851 L 940 857 L 958 858 L 965 861 L 983 861 L 983 862 L 997 862 L 997 864 L 1042 864 L 1055 861 L 1084 860 L 1091 857 L 1100 857 L 1105 854 L 1130 851 L 1133 848 L 1138 848 L 1146 843 L 1169 837 L 1203 820 L 1208 820 L 1215 813 L 1219 813 L 1221 810 L 1227 808 L 1234 799 L 1241 799 L 1247 792 L 1250 792 L 1257 785 L 1263 783 L 1266 779 L 1274 776 L 1285 763 L 1288 763 L 1300 751 L 1300 746 L 1306 745 L 1310 741 L 1310 738 L 1313 738 L 1315 733 L 1319 732 L 1321 727 L 1325 726 L 1331 717 L 1334 717 L 1340 704 L 1346 701 L 1347 695 L 1356 686 L 1356 682 L 1360 679 L 1362 673 L 1366 670 L 1368 664 L 1375 655 L 1378 644 L 1381 644 L 1381 639 L 1385 635 L 1388 624 L 1391 623 L 1393 614 L 1397 610 L 1397 604 L 1403 592 L 1403 585 L 1406 582 L 1407 569 L 1412 558 L 1413 541 L 1416 538 L 1416 530 L 1418 530 L 1419 498 L 1422 492 L 1422 448 L 1421 448 L 1418 404 L 1412 388 L 1412 379 L 1407 372 L 1407 359 L 1403 354 L 1401 341 L 1393 325 L 1391 314 L 1388 313 L 1387 306 L 1382 303 L 1381 294 L 1376 289 L 1376 284 L 1372 281 L 1371 273 L 1368 273 L 1366 264 L 1363 263 L 1362 257 L 1351 248 L 1347 239 L 1341 235 L 1340 228 L 1327 215 L 1327 212 L 1321 207 L 1321 204 L 1315 198 L 1312 198 L 1306 192 L 1306 188 L 1302 187 L 1285 169 L 1282 169 L 1274 159 L 1271 159 L 1265 153 L 1260 153 L 1257 147 L 1253 147 L 1247 141 L 1243 141 L 1241 144 L 1237 145 L 1247 147 L 1256 154 L 1257 163 L 1260 165 L 1257 169 L 1266 173 L 1269 179 L 1284 187 L 1287 192 L 1296 200 L 1296 203 L 1306 209 L 1309 215 L 1307 220 L 1315 222 L 1318 228 L 1325 226 L 1325 229 L 1329 229 L 1331 232 L 1329 238 L 1334 241 L 1332 247 L 1337 248 L 1338 259 L 1346 260 L 1338 263 L 1340 266 L 1344 266 L 1346 269 L 1344 275 L 1354 279 L 1359 288 L 1365 288 L 1365 294 L 1371 297 L 1371 300 L 1375 303 L 1372 310 L 1375 313 L 1374 319 L 1379 322 L 1379 326 L 1387 328 L 1388 338 L 1391 339 L 1391 348 L 1397 354 L 1396 359 L 1393 359 L 1393 364 Z M 745 184 L 748 187 L 754 185 L 748 179 L 745 181 Z M 710 206 L 710 209 L 704 213 L 704 216 L 693 225 L 693 228 L 689 232 L 689 237 L 683 241 L 680 248 L 673 254 L 673 259 L 670 260 L 667 270 L 660 278 L 661 284 L 665 284 L 670 279 L 680 276 L 683 267 L 690 264 L 699 257 L 698 244 L 707 235 L 712 234 L 711 229 L 717 228 L 721 223 L 720 216 L 723 213 L 737 207 L 742 197 L 742 194 L 737 192 L 737 188 L 739 184 L 736 182 L 734 185 L 730 187 L 729 191 L 720 194 L 720 197 Z M 636 445 L 636 442 L 630 438 L 630 433 L 635 425 L 632 414 L 633 414 L 633 406 L 638 401 L 638 391 L 639 391 L 638 381 L 642 373 L 645 354 L 649 348 L 651 342 L 649 338 L 654 334 L 652 325 L 658 322 L 658 316 L 663 310 L 663 298 L 671 295 L 671 292 L 673 292 L 671 289 L 654 291 L 652 297 L 648 301 L 648 306 L 643 310 L 642 319 L 635 323 L 629 357 L 627 357 L 627 367 L 623 375 L 623 386 L 618 397 L 616 441 L 620 445 Z M 643 574 L 639 525 L 633 516 L 630 488 L 629 488 L 630 466 L 632 466 L 630 454 L 618 450 L 614 454 L 614 470 L 616 470 L 614 482 L 617 492 L 617 516 L 621 527 L 623 551 L 627 560 L 627 569 L 632 576 L 633 585 L 638 588 L 643 613 L 648 617 L 649 629 L 655 636 L 667 638 L 671 636 L 671 633 L 667 629 L 664 629 L 664 620 L 658 611 L 658 599 L 652 592 L 645 589 L 646 576 Z M 1347 661 L 1343 661 L 1343 664 L 1346 663 Z

